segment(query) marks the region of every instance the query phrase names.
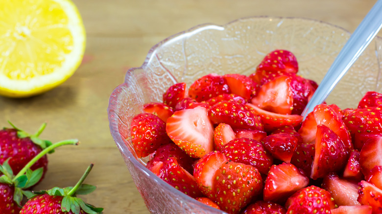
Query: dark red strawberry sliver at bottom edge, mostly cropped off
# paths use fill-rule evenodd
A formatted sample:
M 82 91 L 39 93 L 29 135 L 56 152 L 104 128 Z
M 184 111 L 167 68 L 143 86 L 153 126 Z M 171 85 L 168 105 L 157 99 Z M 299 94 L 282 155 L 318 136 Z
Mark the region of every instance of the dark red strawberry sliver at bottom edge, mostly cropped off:
M 280 204 L 256 201 L 250 204 L 242 214 L 286 214 L 287 210 Z

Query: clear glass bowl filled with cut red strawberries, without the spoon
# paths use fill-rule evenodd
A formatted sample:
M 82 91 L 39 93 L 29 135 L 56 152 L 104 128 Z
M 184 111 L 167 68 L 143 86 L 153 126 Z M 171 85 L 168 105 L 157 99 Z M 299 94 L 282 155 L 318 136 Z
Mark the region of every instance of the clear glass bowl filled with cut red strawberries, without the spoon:
M 152 47 L 108 107 L 150 213 L 382 213 L 382 38 L 301 116 L 349 37 L 249 17 Z

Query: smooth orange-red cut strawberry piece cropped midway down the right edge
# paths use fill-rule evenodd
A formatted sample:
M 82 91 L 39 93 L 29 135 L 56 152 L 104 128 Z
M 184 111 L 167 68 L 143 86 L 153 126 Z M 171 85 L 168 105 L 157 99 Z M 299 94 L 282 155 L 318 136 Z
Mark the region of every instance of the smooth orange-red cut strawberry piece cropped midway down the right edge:
M 382 166 L 382 137 L 370 138 L 359 152 L 359 164 L 364 175 L 375 166 Z

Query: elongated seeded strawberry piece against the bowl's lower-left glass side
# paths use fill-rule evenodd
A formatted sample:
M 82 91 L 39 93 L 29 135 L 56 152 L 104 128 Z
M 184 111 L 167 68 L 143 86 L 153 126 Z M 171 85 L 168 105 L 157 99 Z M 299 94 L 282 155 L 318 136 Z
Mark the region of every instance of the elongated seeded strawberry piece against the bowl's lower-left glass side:
M 157 162 L 158 163 L 158 162 Z M 160 164 L 160 168 L 156 164 L 155 170 L 152 170 L 158 177 L 166 181 L 169 185 L 175 189 L 190 195 L 191 197 L 200 197 L 202 193 L 197 187 L 195 178 L 181 166 L 179 166 L 176 158 L 169 157 L 163 163 Z

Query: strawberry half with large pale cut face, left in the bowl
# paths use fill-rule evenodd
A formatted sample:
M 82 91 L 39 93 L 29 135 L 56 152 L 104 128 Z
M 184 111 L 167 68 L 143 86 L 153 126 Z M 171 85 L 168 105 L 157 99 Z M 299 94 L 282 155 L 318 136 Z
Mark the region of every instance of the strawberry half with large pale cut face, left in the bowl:
M 214 127 L 205 107 L 175 111 L 167 119 L 166 132 L 191 157 L 200 158 L 214 150 Z

